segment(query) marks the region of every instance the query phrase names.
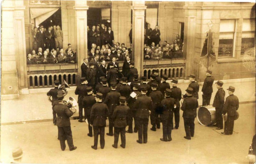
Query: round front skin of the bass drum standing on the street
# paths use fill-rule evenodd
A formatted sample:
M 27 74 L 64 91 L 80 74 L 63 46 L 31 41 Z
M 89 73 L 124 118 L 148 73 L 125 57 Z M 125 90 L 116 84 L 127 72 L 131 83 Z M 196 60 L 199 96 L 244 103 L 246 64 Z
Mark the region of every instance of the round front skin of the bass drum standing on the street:
M 197 112 L 197 119 L 201 125 L 207 126 L 212 122 L 212 115 L 205 107 L 200 107 Z

